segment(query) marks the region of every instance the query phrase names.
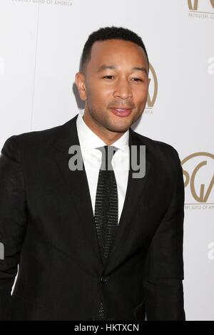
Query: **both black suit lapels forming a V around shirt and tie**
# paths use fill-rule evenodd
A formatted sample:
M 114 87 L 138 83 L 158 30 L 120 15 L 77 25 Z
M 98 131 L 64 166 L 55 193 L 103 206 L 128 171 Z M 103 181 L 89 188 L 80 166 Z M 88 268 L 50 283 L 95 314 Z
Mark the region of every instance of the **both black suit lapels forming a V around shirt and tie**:
M 65 186 L 68 188 L 68 193 L 73 200 L 73 204 L 76 207 L 78 215 L 80 217 L 80 224 L 82 225 L 83 236 L 86 242 L 88 242 L 88 247 L 93 248 L 96 254 L 98 262 L 102 263 L 102 257 L 100 254 L 100 249 L 98 245 L 98 238 L 96 234 L 96 226 L 93 217 L 93 208 L 91 205 L 91 195 L 88 187 L 88 180 L 86 176 L 86 170 L 83 165 L 83 170 L 71 171 L 68 168 L 68 161 L 71 158 L 71 154 L 68 154 L 68 149 L 71 145 L 80 145 L 78 140 L 78 133 L 76 129 L 76 115 L 74 118 L 65 123 L 61 128 L 61 132 L 56 136 L 54 142 L 52 143 L 53 154 L 56 164 L 58 165 L 58 170 L 63 178 Z M 129 148 L 132 145 L 136 145 L 138 155 L 140 145 L 143 145 L 138 140 L 138 134 L 135 133 L 130 128 L 129 133 Z M 136 206 L 138 204 L 138 198 L 143 192 L 143 187 L 148 179 L 148 172 L 151 167 L 151 162 L 146 157 L 146 175 L 143 178 L 133 177 L 133 168 L 131 166 L 131 150 L 130 150 L 130 170 L 128 172 L 128 185 L 126 190 L 126 197 L 124 200 L 123 210 L 121 213 L 121 218 L 119 225 L 116 229 L 116 234 L 111 245 L 111 249 L 108 254 L 108 259 L 106 264 L 103 264 L 103 271 L 111 264 L 113 261 L 113 254 L 116 253 L 118 245 L 121 242 L 123 233 L 126 229 L 131 230 L 132 215 L 136 211 Z

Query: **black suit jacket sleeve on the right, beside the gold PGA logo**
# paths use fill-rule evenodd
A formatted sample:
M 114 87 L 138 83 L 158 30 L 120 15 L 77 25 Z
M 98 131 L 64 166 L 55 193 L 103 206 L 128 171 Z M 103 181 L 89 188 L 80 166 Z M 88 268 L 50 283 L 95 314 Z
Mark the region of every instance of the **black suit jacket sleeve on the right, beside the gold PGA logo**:
M 176 151 L 170 205 L 146 255 L 143 289 L 148 321 L 185 321 L 183 307 L 183 169 Z

